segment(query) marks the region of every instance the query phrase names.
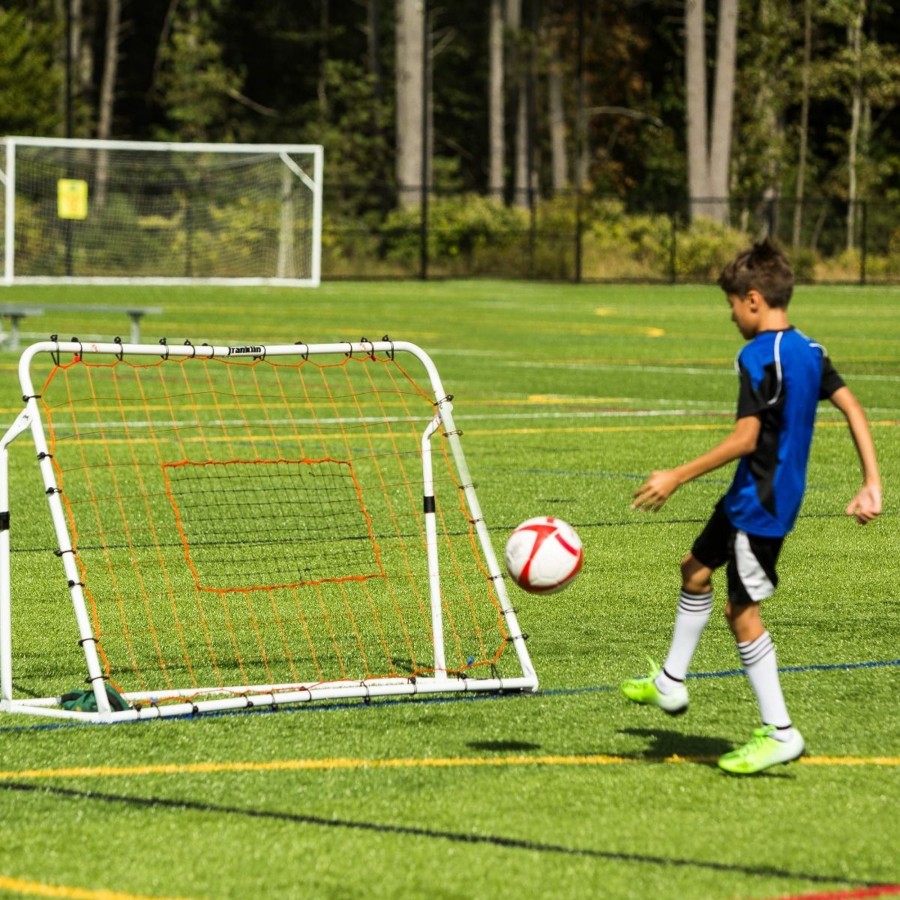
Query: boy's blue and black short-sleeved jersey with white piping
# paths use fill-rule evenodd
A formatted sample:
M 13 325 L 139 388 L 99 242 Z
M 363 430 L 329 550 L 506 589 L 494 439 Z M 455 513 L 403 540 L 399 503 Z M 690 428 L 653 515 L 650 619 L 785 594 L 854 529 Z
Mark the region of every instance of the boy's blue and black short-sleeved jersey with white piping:
M 765 331 L 737 358 L 737 418 L 758 416 L 759 441 L 741 459 L 724 498 L 731 524 L 760 537 L 784 537 L 806 489 L 816 407 L 844 382 L 825 348 L 794 328 Z

